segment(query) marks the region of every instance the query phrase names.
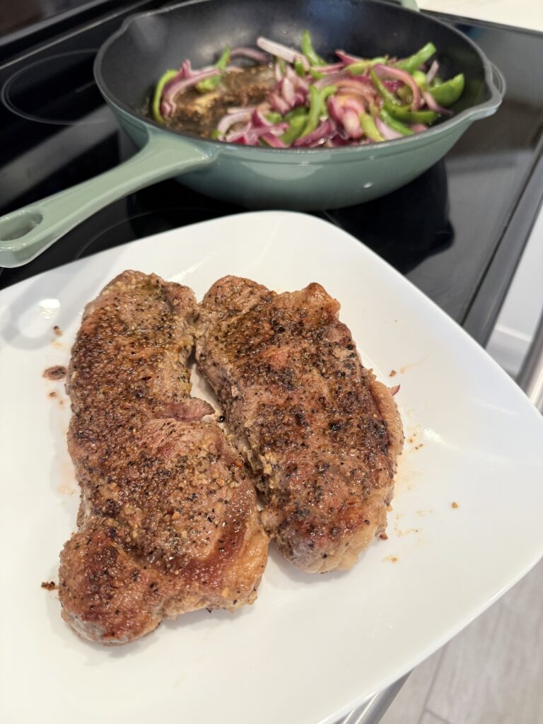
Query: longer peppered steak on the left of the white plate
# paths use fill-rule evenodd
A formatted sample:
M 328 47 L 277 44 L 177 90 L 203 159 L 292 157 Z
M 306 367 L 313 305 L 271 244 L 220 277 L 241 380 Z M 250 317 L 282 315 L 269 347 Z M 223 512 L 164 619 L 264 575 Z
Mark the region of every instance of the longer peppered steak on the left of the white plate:
M 162 618 L 251 603 L 266 563 L 251 474 L 189 397 L 188 287 L 125 271 L 85 309 L 72 349 L 70 455 L 81 505 L 61 553 L 62 615 L 122 644 Z

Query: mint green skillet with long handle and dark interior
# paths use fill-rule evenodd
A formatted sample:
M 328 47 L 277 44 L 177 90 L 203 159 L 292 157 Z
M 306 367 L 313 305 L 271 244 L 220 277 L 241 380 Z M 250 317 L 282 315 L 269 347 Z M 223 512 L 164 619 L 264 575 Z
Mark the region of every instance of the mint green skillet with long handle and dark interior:
M 258 35 L 299 46 L 306 29 L 324 55 L 344 48 L 402 57 L 432 41 L 442 75 L 466 76 L 454 116 L 425 132 L 369 146 L 276 149 L 202 140 L 162 127 L 140 111 L 164 70 L 185 58 L 201 67 L 227 43 L 253 45 Z M 439 161 L 474 120 L 497 110 L 505 93 L 500 72 L 465 35 L 376 0 L 193 0 L 138 14 L 104 43 L 94 72 L 141 150 L 96 178 L 1 217 L 0 266 L 26 264 L 107 204 L 170 177 L 253 209 L 334 209 L 369 201 Z M 182 186 L 179 195 L 182 203 Z

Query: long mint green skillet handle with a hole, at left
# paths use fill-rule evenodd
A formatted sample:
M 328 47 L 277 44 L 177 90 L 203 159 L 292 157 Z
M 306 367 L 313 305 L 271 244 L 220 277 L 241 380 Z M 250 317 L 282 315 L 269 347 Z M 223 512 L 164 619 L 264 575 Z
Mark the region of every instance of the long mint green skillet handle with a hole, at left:
M 148 133 L 141 151 L 93 179 L 0 218 L 0 266 L 22 266 L 88 216 L 153 182 L 209 164 L 206 153 L 166 133 Z

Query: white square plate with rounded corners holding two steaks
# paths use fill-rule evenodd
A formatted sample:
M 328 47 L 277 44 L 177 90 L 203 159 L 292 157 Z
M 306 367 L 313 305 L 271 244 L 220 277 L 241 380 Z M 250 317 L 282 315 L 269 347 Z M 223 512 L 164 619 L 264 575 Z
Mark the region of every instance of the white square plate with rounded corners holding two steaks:
M 308 576 L 272 550 L 252 607 L 188 614 L 107 649 L 78 639 L 56 592 L 40 585 L 56 581 L 78 504 L 69 403 L 63 382 L 42 374 L 67 363 L 83 306 L 123 269 L 154 271 L 198 298 L 224 274 L 274 290 L 320 282 L 340 300 L 366 366 L 401 385 L 406 442 L 389 538 L 351 571 Z M 445 644 L 542 555 L 543 418 L 421 292 L 311 216 L 230 216 L 28 279 L 0 293 L 0 345 L 6 724 L 332 723 Z

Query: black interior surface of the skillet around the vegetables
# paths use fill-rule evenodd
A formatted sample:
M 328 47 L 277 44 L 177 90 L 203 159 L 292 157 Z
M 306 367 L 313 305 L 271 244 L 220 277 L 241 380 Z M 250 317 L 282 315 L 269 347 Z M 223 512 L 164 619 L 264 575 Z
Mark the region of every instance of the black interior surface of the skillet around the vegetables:
M 140 15 L 98 54 L 96 78 L 106 98 L 142 117 L 156 80 L 183 60 L 202 67 L 214 62 L 227 44 L 254 46 L 258 35 L 299 47 L 306 29 L 316 51 L 329 60 L 335 49 L 364 57 L 408 56 L 432 41 L 440 75 L 466 75 L 463 96 L 452 107 L 455 114 L 490 97 L 484 71 L 488 62 L 465 35 L 376 0 L 195 0 Z

